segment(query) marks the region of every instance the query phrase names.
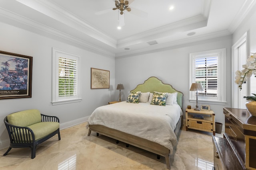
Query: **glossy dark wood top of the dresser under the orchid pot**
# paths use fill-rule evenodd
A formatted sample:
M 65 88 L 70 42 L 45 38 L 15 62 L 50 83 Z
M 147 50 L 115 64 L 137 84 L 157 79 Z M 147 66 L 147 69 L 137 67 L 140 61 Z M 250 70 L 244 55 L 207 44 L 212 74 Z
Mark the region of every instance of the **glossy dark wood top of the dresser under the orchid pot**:
M 246 109 L 223 107 L 223 111 L 230 114 L 232 119 L 243 129 L 256 131 L 256 117 L 252 116 Z

